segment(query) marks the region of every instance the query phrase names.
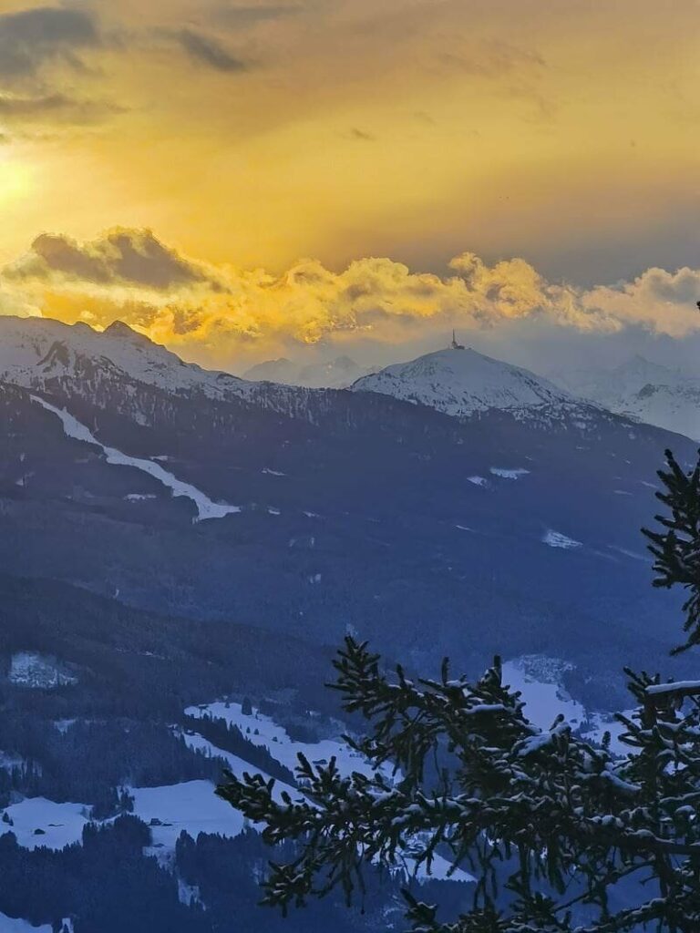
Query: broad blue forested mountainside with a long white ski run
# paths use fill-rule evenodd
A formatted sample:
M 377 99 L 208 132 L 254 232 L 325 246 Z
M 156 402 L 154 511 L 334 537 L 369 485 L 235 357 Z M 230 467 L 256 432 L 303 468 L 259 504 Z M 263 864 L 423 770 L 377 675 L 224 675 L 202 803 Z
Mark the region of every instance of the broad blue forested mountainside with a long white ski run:
M 352 626 L 422 666 L 545 643 L 593 666 L 593 703 L 673 621 L 638 528 L 663 451 L 689 462 L 693 445 L 525 370 L 428 356 L 470 374 L 464 420 L 357 385 L 247 383 L 126 327 L 0 318 L 0 346 L 9 574 L 311 645 Z M 589 634 L 611 619 L 616 646 L 594 662 Z

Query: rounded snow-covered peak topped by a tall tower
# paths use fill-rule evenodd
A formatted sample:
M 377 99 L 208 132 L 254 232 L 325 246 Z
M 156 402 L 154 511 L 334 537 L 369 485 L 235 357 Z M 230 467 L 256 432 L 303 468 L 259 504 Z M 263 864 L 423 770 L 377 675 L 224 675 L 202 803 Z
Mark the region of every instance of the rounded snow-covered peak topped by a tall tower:
M 575 404 L 566 390 L 527 369 L 471 349 L 439 350 L 358 379 L 354 392 L 380 392 L 457 417 Z

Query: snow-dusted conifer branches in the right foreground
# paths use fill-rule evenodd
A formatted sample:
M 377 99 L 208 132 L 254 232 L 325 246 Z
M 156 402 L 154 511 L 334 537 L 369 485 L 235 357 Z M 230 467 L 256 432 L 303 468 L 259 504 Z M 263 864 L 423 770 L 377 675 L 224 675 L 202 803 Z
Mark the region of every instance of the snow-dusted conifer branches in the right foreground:
M 681 586 L 686 642 L 700 644 L 700 465 L 671 453 L 659 472 L 666 508 L 647 531 L 661 587 Z M 663 933 L 700 930 L 700 681 L 627 671 L 636 712 L 619 716 L 624 755 L 557 717 L 542 731 L 503 683 L 387 675 L 353 637 L 334 661 L 348 713 L 368 733 L 348 742 L 376 766 L 343 777 L 333 759 L 300 756 L 298 795 L 261 775 L 227 775 L 218 794 L 299 855 L 272 864 L 264 903 L 303 905 L 341 887 L 350 900 L 368 866 L 437 855 L 475 879 L 458 917 L 406 892 L 414 933 Z

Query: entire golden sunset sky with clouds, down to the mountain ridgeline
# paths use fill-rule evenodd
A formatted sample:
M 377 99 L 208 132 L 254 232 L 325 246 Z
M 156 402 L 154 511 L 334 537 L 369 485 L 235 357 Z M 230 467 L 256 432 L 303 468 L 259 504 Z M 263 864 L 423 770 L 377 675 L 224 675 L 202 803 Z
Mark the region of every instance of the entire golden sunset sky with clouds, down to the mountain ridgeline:
M 690 365 L 698 52 L 698 0 L 0 0 L 0 313 Z

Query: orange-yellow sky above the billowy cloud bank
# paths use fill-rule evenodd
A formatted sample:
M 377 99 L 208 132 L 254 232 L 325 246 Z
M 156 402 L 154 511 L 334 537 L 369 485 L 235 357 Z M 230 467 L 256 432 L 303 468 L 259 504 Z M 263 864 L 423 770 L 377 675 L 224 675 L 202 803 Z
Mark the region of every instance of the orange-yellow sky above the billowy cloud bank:
M 695 268 L 698 52 L 697 0 L 0 0 L 0 262 L 119 226 L 275 276 Z

